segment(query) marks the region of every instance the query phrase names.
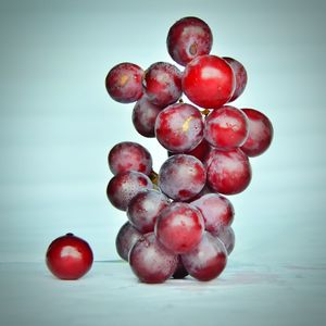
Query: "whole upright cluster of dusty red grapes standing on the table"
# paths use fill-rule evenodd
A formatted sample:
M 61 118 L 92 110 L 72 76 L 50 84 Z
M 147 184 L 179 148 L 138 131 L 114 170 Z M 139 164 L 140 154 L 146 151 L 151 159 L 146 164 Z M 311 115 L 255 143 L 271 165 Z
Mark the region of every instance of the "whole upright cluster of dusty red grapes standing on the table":
M 266 115 L 229 104 L 243 92 L 247 72 L 233 58 L 210 54 L 212 42 L 205 22 L 184 17 L 166 39 L 183 68 L 124 62 L 105 78 L 112 99 L 135 103 L 135 129 L 167 151 L 158 173 L 150 152 L 134 141 L 115 145 L 108 156 L 114 175 L 108 199 L 128 217 L 116 250 L 143 283 L 187 275 L 211 280 L 223 272 L 235 246 L 226 196 L 248 187 L 249 156 L 262 154 L 273 138 Z

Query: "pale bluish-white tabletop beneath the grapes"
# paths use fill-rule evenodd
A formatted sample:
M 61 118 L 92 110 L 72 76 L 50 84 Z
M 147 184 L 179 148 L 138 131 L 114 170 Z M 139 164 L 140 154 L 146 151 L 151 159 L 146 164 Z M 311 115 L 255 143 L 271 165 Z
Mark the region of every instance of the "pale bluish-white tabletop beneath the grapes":
M 0 264 L 1 325 L 325 325 L 325 268 L 229 260 L 209 283 L 139 283 L 125 262 L 96 262 L 77 281 L 43 263 Z

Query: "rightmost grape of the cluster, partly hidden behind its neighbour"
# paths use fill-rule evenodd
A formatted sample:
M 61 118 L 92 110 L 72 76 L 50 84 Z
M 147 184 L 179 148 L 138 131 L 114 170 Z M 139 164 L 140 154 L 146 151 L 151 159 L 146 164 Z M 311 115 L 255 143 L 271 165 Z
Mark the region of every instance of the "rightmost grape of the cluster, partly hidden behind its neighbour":
M 258 156 L 265 152 L 273 139 L 273 125 L 268 117 L 254 109 L 242 109 L 249 120 L 249 136 L 241 146 L 248 156 Z

